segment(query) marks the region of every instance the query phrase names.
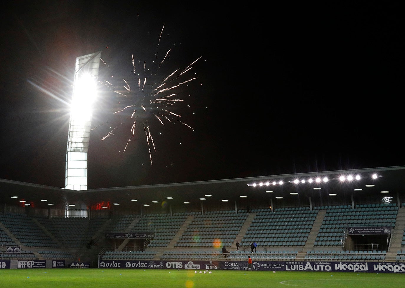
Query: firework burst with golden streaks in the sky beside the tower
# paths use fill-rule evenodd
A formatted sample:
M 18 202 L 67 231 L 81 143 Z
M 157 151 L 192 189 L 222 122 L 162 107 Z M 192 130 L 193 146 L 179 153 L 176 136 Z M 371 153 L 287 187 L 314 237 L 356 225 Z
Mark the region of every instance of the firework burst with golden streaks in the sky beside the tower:
M 164 25 L 160 32 L 158 46 L 156 48 L 155 59 L 158 59 L 158 50 L 160 40 L 162 38 Z M 188 78 L 188 72 L 193 68 L 201 57 L 194 60 L 184 69 L 174 69 L 168 75 L 161 76 L 162 66 L 169 58 L 171 49 L 164 54 L 161 61 L 135 61 L 132 55 L 132 79 L 122 79 L 122 86 L 116 88 L 109 81 L 102 81 L 104 86 L 117 93 L 119 96 L 120 108 L 114 114 L 120 116 L 122 120 L 119 124 L 111 127 L 111 130 L 102 137 L 102 141 L 111 137 L 117 131 L 119 125 L 128 125 L 127 133 L 129 134 L 128 141 L 124 147 L 126 151 L 130 142 L 137 136 L 136 130 L 140 129 L 145 133 L 147 145 L 149 148 L 149 159 L 152 165 L 152 151 L 156 151 L 151 132 L 152 121 L 157 121 L 160 125 L 165 125 L 167 122 L 180 123 L 194 130 L 190 125 L 185 124 L 180 120 L 181 116 L 174 110 L 176 104 L 183 101 L 181 99 L 182 86 L 188 84 L 197 78 Z M 130 127 L 130 128 L 129 128 Z M 96 127 L 98 128 L 98 127 Z M 95 128 L 94 128 L 95 129 Z M 139 130 L 138 130 L 139 131 Z

